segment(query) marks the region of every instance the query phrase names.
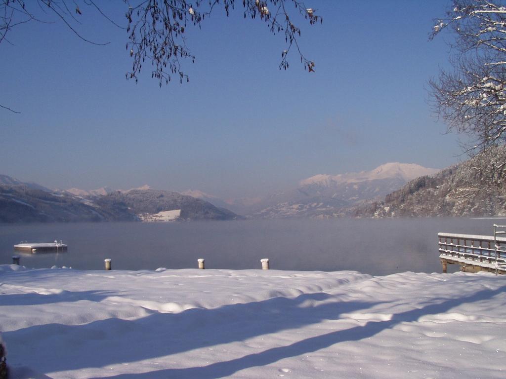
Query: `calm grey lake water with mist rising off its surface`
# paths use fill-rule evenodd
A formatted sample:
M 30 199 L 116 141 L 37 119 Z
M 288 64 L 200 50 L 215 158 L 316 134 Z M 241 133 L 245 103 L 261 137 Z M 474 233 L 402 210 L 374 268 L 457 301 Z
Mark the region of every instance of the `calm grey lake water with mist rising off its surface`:
M 63 240 L 65 253 L 16 254 L 27 267 L 103 269 L 271 268 L 357 270 L 373 275 L 440 272 L 437 233 L 492 233 L 504 219 L 419 218 L 256 220 L 188 223 L 71 223 L 0 225 L 0 264 L 13 245 Z

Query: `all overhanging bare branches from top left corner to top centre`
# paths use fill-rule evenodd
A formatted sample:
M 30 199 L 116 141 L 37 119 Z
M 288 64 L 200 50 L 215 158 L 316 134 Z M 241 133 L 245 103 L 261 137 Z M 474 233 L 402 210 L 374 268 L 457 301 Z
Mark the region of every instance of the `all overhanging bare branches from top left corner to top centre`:
M 64 22 L 79 38 L 94 44 L 107 44 L 90 40 L 78 31 L 82 17 L 99 13 L 126 31 L 127 54 L 133 60 L 127 79 L 138 80 L 144 63 L 151 64 L 151 76 L 159 85 L 173 79 L 188 81 L 182 69 L 184 59 L 194 61 L 186 45 L 185 31 L 200 27 L 215 8 L 221 8 L 227 16 L 239 0 L 123 0 L 126 18 L 124 25 L 113 21 L 104 12 L 103 3 L 94 0 L 0 0 L 0 44 L 9 42 L 10 32 L 27 22 Z M 314 62 L 307 59 L 299 49 L 297 38 L 301 29 L 292 22 L 288 6 L 299 13 L 311 25 L 322 22 L 316 10 L 299 0 L 241 0 L 244 18 L 264 21 L 274 34 L 282 33 L 286 46 L 281 52 L 279 69 L 288 68 L 288 54 L 297 50 L 304 69 L 314 71 Z M 124 27 L 123 27 L 124 26 Z M 106 38 L 106 36 L 104 36 Z M 2 108 L 7 108 L 0 105 Z M 7 108 L 9 109 L 9 108 Z

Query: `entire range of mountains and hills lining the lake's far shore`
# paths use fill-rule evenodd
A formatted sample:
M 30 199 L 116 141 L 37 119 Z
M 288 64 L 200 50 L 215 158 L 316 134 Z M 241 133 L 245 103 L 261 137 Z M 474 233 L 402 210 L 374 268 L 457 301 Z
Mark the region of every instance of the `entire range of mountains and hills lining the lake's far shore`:
M 51 190 L 0 175 L 0 222 L 503 215 L 506 169 L 491 167 L 505 161 L 504 148 L 497 148 L 441 171 L 386 163 L 370 171 L 318 174 L 265 198 L 236 200 L 148 185 Z

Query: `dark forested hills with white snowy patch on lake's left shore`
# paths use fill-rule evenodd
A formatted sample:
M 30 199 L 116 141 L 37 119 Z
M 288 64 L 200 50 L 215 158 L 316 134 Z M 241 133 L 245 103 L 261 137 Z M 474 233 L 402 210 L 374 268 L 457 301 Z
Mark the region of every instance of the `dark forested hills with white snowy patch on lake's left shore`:
M 173 212 L 171 212 L 173 211 Z M 168 214 L 167 214 L 168 213 Z M 228 220 L 241 216 L 176 192 L 141 187 L 128 191 L 52 191 L 0 176 L 0 222 Z

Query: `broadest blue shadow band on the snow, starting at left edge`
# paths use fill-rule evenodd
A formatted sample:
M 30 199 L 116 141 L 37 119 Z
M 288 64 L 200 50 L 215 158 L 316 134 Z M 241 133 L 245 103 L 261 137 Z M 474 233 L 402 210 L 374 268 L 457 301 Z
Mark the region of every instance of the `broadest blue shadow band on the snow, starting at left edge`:
M 341 313 L 377 304 L 329 302 L 331 299 L 332 296 L 324 293 L 303 294 L 297 298 L 276 297 L 175 314 L 155 312 L 136 320 L 108 318 L 81 325 L 34 325 L 7 331 L 3 337 L 11 357 L 32 359 L 33 362 L 22 363 L 37 367 L 39 372 L 55 372 L 103 367 L 243 341 L 325 319 L 339 319 Z M 59 351 L 60 356 L 55 359 L 51 348 L 54 346 L 69 348 Z

